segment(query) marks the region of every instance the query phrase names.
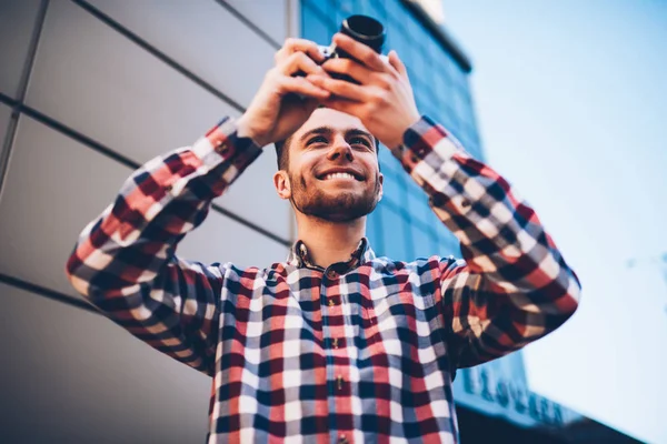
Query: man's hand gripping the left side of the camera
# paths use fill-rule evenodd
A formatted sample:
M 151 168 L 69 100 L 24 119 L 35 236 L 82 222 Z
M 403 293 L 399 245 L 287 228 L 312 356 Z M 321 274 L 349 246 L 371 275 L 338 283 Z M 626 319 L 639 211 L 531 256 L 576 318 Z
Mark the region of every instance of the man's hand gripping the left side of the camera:
M 306 75 L 329 77 L 318 64 L 323 56 L 315 42 L 287 39 L 275 59 L 276 65 L 267 72 L 259 91 L 237 121 L 238 134 L 252 138 L 260 147 L 288 138 L 308 120 L 319 101 L 330 94 L 306 77 L 292 77 L 299 71 Z

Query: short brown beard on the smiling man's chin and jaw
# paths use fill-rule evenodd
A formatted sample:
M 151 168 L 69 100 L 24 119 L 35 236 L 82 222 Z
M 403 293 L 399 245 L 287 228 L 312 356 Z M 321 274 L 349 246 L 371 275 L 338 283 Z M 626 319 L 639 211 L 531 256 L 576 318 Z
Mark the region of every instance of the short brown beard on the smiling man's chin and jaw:
M 380 181 L 375 176 L 372 190 L 358 194 L 348 190 L 340 190 L 336 194 L 328 193 L 320 188 L 306 185 L 302 175 L 295 176 L 288 173 L 292 185 L 290 201 L 301 213 L 329 222 L 350 222 L 362 218 L 372 210 L 379 201 Z

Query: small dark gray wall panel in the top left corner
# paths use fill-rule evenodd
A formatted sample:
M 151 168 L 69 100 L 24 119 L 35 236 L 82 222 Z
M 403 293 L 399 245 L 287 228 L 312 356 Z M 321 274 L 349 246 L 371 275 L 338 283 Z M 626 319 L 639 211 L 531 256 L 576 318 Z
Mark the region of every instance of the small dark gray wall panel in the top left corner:
M 19 92 L 39 4 L 39 0 L 0 1 L 0 91 L 12 98 Z

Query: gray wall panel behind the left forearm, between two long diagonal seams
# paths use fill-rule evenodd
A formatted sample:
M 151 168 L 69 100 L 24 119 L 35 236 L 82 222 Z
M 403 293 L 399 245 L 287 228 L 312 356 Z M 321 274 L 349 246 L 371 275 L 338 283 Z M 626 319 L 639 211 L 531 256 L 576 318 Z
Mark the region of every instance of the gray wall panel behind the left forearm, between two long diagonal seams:
M 71 2 L 51 2 L 34 63 L 29 105 L 139 163 L 192 143 L 222 115 L 238 115 Z M 290 210 L 276 195 L 276 154 L 267 151 L 217 203 L 289 239 Z

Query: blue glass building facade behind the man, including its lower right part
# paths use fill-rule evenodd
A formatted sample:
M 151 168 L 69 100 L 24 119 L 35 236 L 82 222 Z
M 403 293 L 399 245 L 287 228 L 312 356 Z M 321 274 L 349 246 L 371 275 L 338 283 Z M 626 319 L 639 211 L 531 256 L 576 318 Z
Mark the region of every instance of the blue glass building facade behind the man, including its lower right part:
M 470 93 L 470 63 L 442 29 L 434 32 L 434 22 L 429 23 L 427 14 L 414 2 L 302 0 L 301 36 L 329 44 L 341 21 L 355 13 L 374 17 L 385 24 L 384 52 L 394 49 L 406 63 L 419 111 L 442 124 L 474 158 L 484 162 Z M 425 192 L 389 150 L 381 149 L 379 157 L 385 194 L 368 219 L 368 238 L 376 253 L 406 261 L 432 254 L 461 258 L 458 239 L 436 218 Z M 560 427 L 580 418 L 528 390 L 521 352 L 459 370 L 455 398 L 459 407 L 500 416 L 524 427 Z M 461 414 L 465 437 L 470 416 Z

